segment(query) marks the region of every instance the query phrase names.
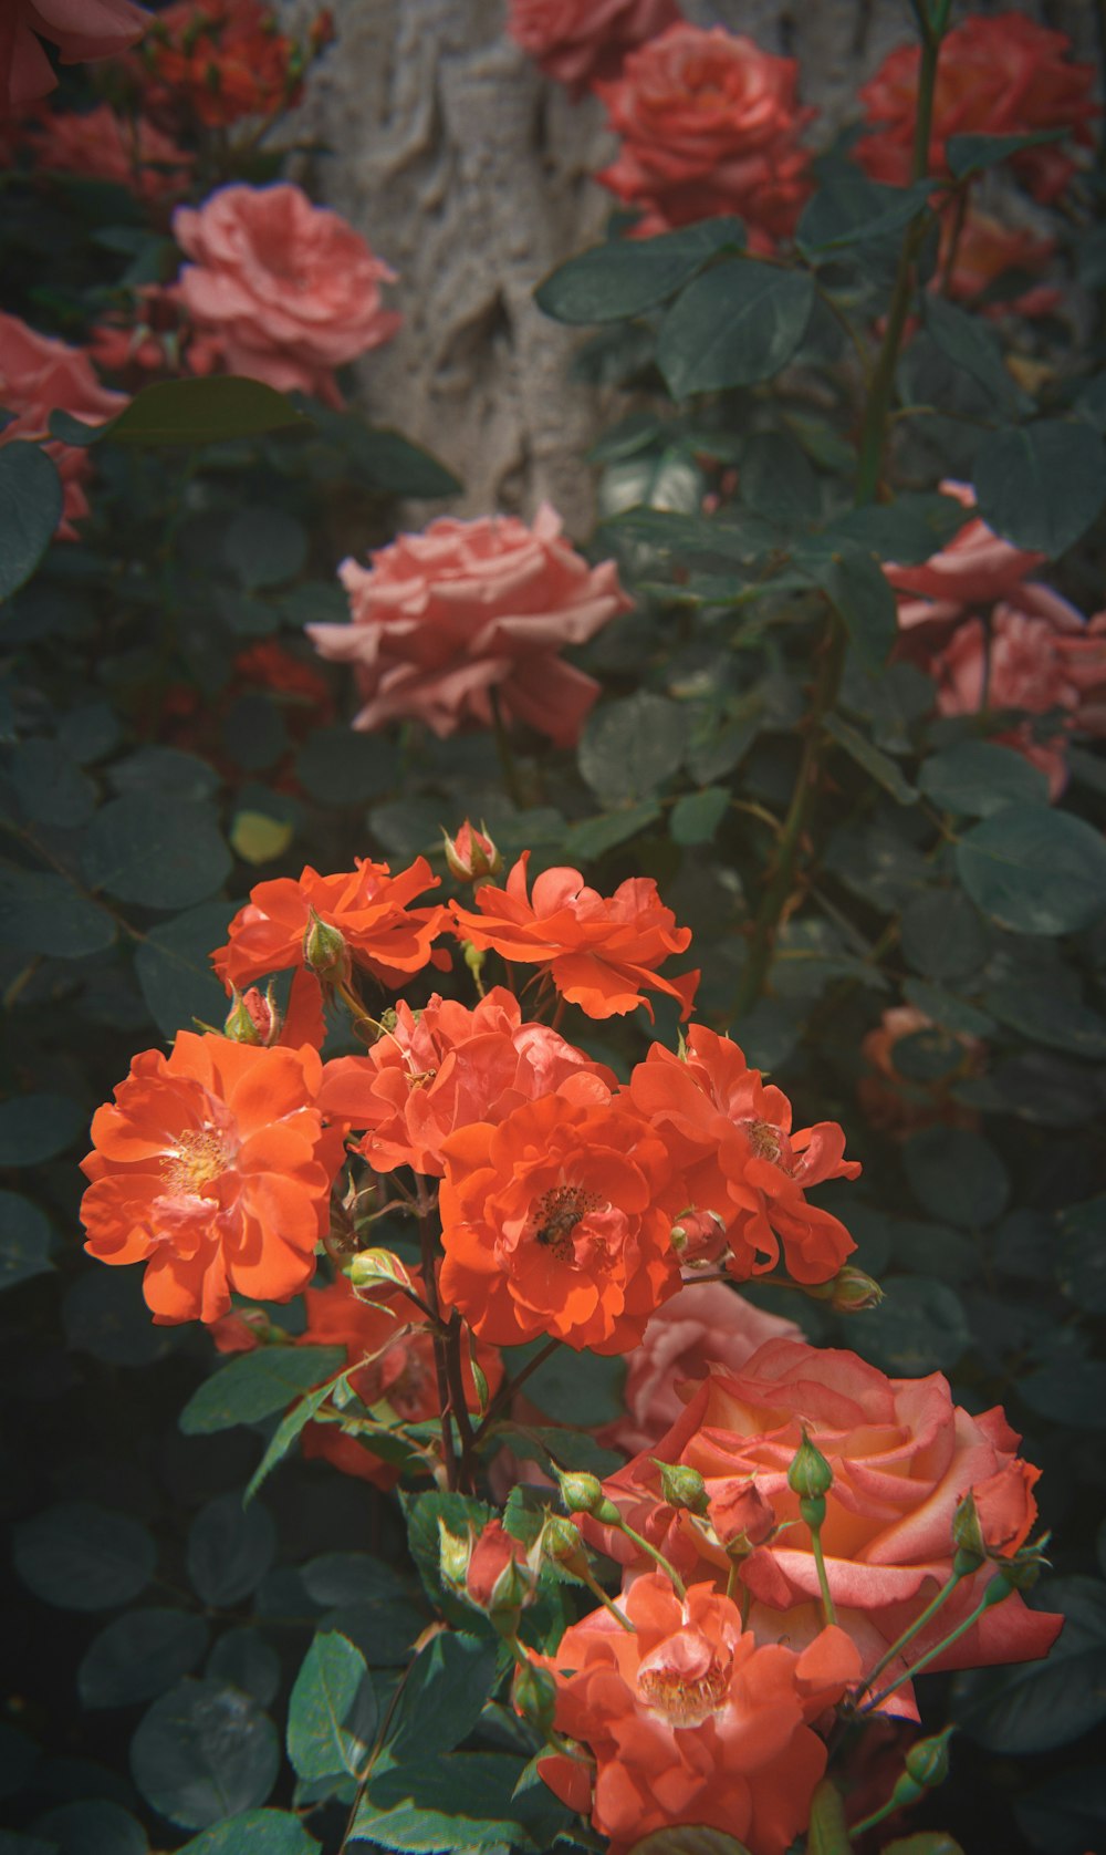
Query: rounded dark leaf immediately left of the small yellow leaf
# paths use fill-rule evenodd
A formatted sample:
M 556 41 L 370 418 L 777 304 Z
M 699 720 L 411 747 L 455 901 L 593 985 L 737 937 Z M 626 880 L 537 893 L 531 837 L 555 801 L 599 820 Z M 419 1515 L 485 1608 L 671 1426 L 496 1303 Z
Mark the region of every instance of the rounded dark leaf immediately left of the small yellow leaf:
M 85 833 L 82 861 L 89 887 L 165 911 L 204 902 L 232 870 L 211 807 L 165 805 L 152 792 L 104 805 Z

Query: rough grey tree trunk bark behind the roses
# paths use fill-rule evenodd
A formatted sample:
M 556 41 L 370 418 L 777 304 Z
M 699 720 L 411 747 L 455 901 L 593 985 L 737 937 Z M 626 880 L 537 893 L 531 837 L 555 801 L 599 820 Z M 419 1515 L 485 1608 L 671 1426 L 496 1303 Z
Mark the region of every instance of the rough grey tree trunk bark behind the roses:
M 287 11 L 315 6 L 289 0 Z M 584 536 L 584 453 L 608 412 L 571 380 L 580 336 L 547 321 L 532 293 L 602 236 L 611 197 L 589 176 L 615 147 L 604 111 L 541 78 L 506 37 L 504 0 L 337 0 L 335 11 L 339 39 L 300 124 L 332 150 L 313 163 L 311 191 L 398 271 L 391 301 L 404 313 L 396 339 L 359 367 L 363 403 L 458 471 L 459 514 L 530 516 L 548 497 Z M 1019 11 L 1095 58 L 1099 0 Z M 684 0 L 684 13 L 798 58 L 819 139 L 911 37 L 906 0 Z

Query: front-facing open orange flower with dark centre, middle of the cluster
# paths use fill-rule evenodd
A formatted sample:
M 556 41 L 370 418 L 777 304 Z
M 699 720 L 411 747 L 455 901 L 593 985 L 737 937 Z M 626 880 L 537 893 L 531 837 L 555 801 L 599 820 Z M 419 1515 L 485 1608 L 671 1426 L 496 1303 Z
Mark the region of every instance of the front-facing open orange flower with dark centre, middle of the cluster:
M 658 1208 L 665 1150 L 572 1081 L 445 1143 L 439 1293 L 496 1345 L 628 1352 L 680 1287 Z

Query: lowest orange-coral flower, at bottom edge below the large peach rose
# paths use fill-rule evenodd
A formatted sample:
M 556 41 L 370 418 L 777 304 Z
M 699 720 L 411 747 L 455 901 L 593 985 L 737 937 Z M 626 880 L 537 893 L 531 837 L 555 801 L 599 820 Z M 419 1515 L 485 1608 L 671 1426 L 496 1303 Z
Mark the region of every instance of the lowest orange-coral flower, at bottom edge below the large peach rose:
M 784 1855 L 806 1829 L 826 1768 L 811 1721 L 860 1673 L 839 1629 L 797 1655 L 758 1647 L 737 1606 L 693 1584 L 684 1603 L 663 1573 L 622 1592 L 624 1631 L 595 1610 L 565 1631 L 556 1655 L 534 1657 L 556 1679 L 556 1729 L 595 1757 L 541 1759 L 548 1788 L 591 1812 L 610 1855 L 678 1823 L 721 1829 L 756 1855 Z

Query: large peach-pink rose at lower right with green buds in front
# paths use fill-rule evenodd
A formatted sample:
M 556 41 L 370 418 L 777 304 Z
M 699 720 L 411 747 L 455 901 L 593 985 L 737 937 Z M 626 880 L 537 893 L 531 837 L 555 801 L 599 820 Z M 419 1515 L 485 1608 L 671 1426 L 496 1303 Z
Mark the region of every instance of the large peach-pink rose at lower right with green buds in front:
M 887 1378 L 854 1352 L 773 1339 L 739 1373 L 713 1373 L 684 1415 L 648 1454 L 604 1484 L 630 1527 L 658 1545 L 684 1577 L 711 1575 L 726 1582 L 730 1560 L 710 1530 L 689 1514 L 676 1514 L 660 1497 L 661 1462 L 698 1469 L 711 1504 L 734 1484 L 752 1478 L 776 1514 L 780 1532 L 739 1566 L 752 1593 L 748 1625 L 758 1642 L 811 1642 L 821 1627 L 819 1577 L 810 1529 L 787 1469 L 802 1434 L 834 1471 L 821 1529 L 826 1575 L 837 1621 L 856 1642 L 865 1671 L 884 1657 L 904 1629 L 952 1577 L 952 1517 L 960 1499 L 1017 1464 L 1017 1434 L 999 1408 L 978 1417 L 952 1402 L 941 1373 L 928 1378 Z M 1023 1488 L 1036 1478 L 1028 1469 Z M 1006 1490 L 1006 1482 L 1004 1482 Z M 989 1493 L 984 1495 L 989 1499 Z M 1002 1497 L 1002 1521 L 1010 1499 Z M 999 1503 L 995 1503 L 999 1506 Z M 1017 1534 L 1030 1517 L 1017 1495 Z M 630 1562 L 622 1534 L 584 1521 L 589 1538 Z M 1028 1529 L 1026 1529 L 1028 1530 Z M 978 1605 L 991 1569 L 965 1577 L 936 1619 L 919 1632 L 886 1671 L 904 1673 L 939 1644 Z M 1062 1619 L 1028 1610 L 1013 1593 L 986 1610 L 980 1621 L 932 1668 L 982 1668 L 1026 1662 L 1047 1655 Z M 893 1699 L 895 1712 L 913 1718 L 910 1688 Z

